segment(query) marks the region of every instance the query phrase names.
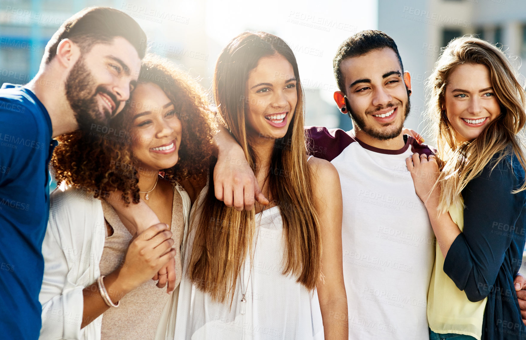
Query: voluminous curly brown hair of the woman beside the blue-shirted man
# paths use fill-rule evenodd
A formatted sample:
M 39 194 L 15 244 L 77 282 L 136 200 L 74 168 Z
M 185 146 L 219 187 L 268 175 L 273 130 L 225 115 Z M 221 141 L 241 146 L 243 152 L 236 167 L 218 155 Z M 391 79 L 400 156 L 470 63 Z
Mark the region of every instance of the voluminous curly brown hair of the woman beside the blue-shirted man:
M 181 121 L 179 161 L 162 169 L 170 182 L 203 178 L 208 173 L 214 152 L 216 122 L 203 90 L 187 73 L 167 59 L 148 54 L 141 64 L 140 83 L 159 86 L 174 104 Z M 105 197 L 121 190 L 124 201 L 139 200 L 137 186 L 141 169 L 131 150 L 138 136 L 130 133 L 131 116 L 137 103 L 128 100 L 123 112 L 108 126 L 92 124 L 90 131 L 75 131 L 59 137 L 52 158 L 57 185 L 62 182 Z

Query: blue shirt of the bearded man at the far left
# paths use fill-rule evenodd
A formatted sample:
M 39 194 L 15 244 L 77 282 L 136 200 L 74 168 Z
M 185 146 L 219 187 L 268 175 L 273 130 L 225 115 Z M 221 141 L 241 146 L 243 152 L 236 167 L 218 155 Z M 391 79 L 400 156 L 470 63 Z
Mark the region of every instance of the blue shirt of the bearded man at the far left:
M 42 324 L 42 241 L 49 215 L 48 163 L 56 141 L 28 89 L 0 89 L 0 338 L 37 339 Z

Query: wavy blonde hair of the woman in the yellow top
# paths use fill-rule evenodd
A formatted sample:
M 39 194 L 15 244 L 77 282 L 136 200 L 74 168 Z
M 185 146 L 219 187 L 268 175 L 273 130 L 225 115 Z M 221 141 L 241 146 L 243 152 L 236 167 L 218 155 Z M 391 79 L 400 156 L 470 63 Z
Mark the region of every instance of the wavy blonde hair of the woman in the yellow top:
M 488 68 L 501 113 L 476 139 L 459 142 L 442 108 L 448 78 L 457 66 L 464 63 L 485 65 Z M 452 204 L 460 204 L 462 189 L 482 172 L 496 154 L 498 157 L 492 164 L 493 168 L 502 158 L 514 153 L 522 168 L 526 169 L 520 138 L 526 123 L 526 96 L 518 81 L 518 74 L 504 52 L 472 36 L 453 39 L 435 63 L 427 86 L 430 91 L 428 115 L 433 133 L 437 136 L 438 156 L 441 159 L 437 182 L 441 188 L 440 211 L 447 211 Z M 524 189 L 526 183 L 513 193 Z

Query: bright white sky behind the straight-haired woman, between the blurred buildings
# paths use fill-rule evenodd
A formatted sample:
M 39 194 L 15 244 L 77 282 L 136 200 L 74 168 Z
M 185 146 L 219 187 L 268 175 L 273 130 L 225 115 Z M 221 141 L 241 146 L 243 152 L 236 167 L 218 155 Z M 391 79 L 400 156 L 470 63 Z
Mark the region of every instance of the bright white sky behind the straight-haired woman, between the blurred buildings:
M 377 0 L 207 0 L 206 34 L 221 47 L 247 29 L 279 36 L 294 51 L 303 86 L 322 89 L 322 99 L 332 104 L 332 58 L 343 40 L 377 28 L 377 6 Z

